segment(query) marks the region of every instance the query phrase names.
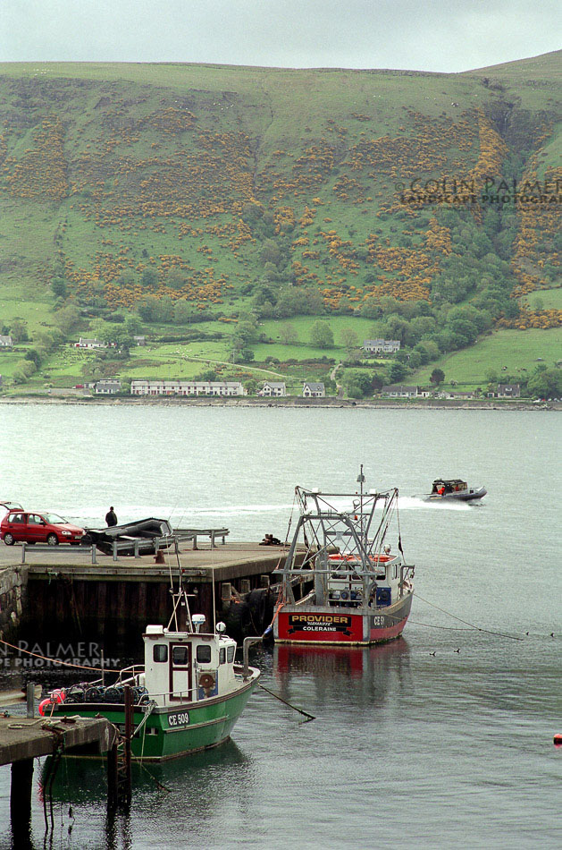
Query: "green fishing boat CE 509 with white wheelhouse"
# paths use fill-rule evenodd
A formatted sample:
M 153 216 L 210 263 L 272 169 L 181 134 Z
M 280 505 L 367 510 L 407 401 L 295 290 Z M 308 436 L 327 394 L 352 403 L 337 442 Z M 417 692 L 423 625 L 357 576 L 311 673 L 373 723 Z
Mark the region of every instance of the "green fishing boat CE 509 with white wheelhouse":
M 101 715 L 120 733 L 129 723 L 131 755 L 140 761 L 173 759 L 226 741 L 260 672 L 247 664 L 247 642 L 244 663 L 237 664 L 236 642 L 224 633 L 224 624 L 203 631 L 206 617 L 190 616 L 187 593 L 174 595 L 183 600 L 187 627 L 179 630 L 177 619 L 173 630 L 172 620 L 168 628 L 147 625 L 144 666 L 125 667 L 112 684 L 104 677 L 57 689 L 39 704 L 39 713 L 54 719 Z M 177 609 L 176 599 L 174 618 Z

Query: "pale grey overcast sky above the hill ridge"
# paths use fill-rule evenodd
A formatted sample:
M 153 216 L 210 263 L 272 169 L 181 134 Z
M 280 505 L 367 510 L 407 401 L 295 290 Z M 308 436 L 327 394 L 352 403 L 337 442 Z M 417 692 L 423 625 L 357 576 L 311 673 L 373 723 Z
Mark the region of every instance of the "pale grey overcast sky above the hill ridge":
M 558 0 L 0 0 L 0 61 L 458 72 L 559 47 Z

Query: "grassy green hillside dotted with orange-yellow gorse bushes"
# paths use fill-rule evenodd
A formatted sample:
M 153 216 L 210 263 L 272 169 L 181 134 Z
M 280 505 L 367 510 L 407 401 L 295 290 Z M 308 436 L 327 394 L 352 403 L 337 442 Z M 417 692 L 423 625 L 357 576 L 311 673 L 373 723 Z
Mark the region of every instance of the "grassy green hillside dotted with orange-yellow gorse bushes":
M 173 335 L 172 371 L 246 359 L 259 377 L 267 357 L 349 359 L 342 327 L 417 346 L 415 368 L 490 330 L 551 334 L 559 59 L 465 74 L 0 64 L 0 333 L 25 327 L 0 373 L 34 347 L 31 383 L 90 361 L 161 374 Z M 64 339 L 137 311 L 152 365 L 66 362 Z M 312 343 L 316 319 L 333 348 Z M 280 343 L 288 322 L 298 338 Z

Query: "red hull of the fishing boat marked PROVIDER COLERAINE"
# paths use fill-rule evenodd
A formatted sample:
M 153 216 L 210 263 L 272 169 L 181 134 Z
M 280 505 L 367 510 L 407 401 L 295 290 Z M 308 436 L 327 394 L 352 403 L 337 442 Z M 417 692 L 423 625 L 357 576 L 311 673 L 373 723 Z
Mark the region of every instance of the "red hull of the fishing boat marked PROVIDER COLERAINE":
M 413 593 L 384 608 L 284 605 L 273 625 L 279 643 L 367 646 L 397 638 L 407 624 Z

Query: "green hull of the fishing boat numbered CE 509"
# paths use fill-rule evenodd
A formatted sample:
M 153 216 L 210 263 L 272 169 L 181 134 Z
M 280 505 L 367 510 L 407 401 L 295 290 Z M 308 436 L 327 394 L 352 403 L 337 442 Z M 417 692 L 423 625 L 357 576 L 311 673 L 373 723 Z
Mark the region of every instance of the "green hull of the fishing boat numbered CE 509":
M 222 744 L 230 737 L 258 678 L 259 672 L 256 670 L 247 684 L 222 697 L 200 702 L 178 702 L 170 707 L 153 710 L 146 724 L 131 740 L 133 759 L 165 761 Z M 80 715 L 84 718 L 102 715 L 124 732 L 125 714 L 122 705 L 63 702 L 55 706 L 53 717 L 62 715 Z M 145 712 L 135 706 L 134 728 L 138 727 L 144 717 Z

